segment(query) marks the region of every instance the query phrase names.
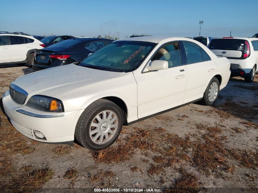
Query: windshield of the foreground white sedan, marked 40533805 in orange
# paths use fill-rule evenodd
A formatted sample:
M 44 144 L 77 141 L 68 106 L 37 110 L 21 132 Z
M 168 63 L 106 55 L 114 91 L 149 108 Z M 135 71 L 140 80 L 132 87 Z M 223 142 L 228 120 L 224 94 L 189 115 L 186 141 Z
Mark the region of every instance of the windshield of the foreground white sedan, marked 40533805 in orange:
M 155 45 L 145 41 L 114 41 L 83 60 L 81 65 L 130 72 L 140 65 Z

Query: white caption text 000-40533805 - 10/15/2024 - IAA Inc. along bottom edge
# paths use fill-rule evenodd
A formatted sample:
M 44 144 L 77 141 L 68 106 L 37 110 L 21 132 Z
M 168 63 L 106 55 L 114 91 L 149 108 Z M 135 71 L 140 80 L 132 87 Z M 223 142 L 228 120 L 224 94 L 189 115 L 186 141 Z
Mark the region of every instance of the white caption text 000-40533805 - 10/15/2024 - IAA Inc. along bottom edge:
M 156 188 L 94 188 L 94 192 L 161 192 Z

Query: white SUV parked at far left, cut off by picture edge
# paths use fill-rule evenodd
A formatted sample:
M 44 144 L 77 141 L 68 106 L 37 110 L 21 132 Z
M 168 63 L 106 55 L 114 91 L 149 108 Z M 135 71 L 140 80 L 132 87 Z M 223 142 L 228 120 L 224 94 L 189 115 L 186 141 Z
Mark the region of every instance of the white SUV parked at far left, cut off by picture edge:
M 32 66 L 34 50 L 45 45 L 30 35 L 0 33 L 0 65 L 23 64 Z

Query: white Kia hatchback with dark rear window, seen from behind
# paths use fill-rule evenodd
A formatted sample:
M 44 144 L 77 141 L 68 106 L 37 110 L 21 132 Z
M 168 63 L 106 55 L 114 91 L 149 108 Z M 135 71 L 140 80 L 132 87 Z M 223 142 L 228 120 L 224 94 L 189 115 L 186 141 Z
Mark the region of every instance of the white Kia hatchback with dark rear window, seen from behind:
M 246 82 L 253 82 L 258 72 L 258 38 L 214 38 L 208 48 L 214 54 L 229 59 L 232 77 L 240 76 Z

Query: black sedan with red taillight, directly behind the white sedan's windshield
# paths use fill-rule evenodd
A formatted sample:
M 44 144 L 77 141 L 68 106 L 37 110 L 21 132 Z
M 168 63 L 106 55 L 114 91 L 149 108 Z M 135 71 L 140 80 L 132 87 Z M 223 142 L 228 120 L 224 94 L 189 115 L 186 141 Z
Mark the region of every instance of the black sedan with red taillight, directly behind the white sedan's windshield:
M 36 49 L 33 71 L 79 62 L 113 40 L 104 38 L 73 38 L 48 48 Z

